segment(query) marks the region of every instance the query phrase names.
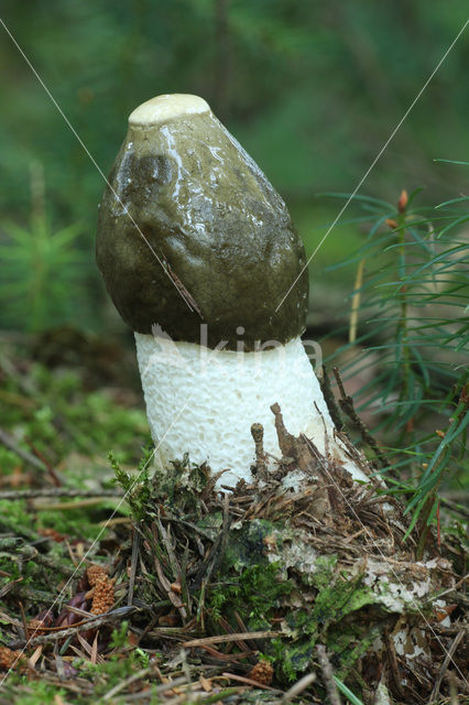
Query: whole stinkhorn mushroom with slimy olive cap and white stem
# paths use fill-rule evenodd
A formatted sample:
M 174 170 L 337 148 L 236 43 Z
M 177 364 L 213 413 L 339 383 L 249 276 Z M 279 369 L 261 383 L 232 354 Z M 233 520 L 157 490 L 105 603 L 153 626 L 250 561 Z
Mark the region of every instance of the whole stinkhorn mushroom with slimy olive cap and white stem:
M 251 425 L 280 457 L 271 405 L 292 434 L 367 479 L 336 437 L 301 335 L 305 250 L 282 198 L 205 100 L 138 107 L 101 199 L 97 261 L 134 330 L 161 465 L 188 452 L 223 482 L 251 478 Z M 297 283 L 277 312 L 292 282 Z

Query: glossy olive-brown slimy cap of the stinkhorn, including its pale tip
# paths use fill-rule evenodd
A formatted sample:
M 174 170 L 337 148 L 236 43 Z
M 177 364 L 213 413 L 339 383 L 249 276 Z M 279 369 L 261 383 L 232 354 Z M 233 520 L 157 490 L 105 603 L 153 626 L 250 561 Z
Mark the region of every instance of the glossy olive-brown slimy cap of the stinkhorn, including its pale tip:
M 285 204 L 196 96 L 159 96 L 131 113 L 96 250 L 116 307 L 138 333 L 157 324 L 173 340 L 200 343 L 207 324 L 209 347 L 228 340 L 236 349 L 242 339 L 252 350 L 304 330 L 306 258 Z

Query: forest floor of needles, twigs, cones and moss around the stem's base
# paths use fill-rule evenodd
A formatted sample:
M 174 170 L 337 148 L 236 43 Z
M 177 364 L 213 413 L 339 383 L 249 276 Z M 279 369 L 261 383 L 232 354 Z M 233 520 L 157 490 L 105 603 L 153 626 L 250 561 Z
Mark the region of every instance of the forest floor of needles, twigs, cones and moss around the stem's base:
M 0 705 L 468 697 L 463 528 L 417 560 L 399 499 L 274 421 L 283 458 L 268 470 L 258 433 L 251 484 L 188 457 L 153 475 L 150 449 L 138 474 L 111 458 L 112 487 L 4 491 Z

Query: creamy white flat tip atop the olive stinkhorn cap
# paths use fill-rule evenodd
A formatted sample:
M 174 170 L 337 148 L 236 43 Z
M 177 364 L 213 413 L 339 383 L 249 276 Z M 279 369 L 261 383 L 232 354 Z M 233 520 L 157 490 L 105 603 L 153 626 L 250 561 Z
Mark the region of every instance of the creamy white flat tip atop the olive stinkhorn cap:
M 182 93 L 165 94 L 151 98 L 135 108 L 129 116 L 129 124 L 145 127 L 185 115 L 209 111 L 210 107 L 204 98 Z

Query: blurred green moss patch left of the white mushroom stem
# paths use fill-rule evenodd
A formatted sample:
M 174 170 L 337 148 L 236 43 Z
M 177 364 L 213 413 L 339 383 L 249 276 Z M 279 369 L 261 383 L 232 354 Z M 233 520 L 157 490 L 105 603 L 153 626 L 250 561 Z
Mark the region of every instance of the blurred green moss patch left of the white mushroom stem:
M 150 436 L 143 410 L 116 403 L 107 389 L 90 393 L 79 376 L 68 369 L 48 370 L 35 364 L 30 378 L 34 390 L 31 398 L 24 397 L 15 379 L 7 379 L 4 391 L 11 402 L 2 406 L 2 427 L 20 440 L 21 447 L 31 453 L 21 438 L 32 440 L 34 448 L 54 466 L 72 449 L 75 456 L 86 455 L 76 474 L 65 465 L 67 480 L 74 487 L 83 487 L 85 474 L 96 477 L 95 459 L 116 440 L 119 462 L 137 463 Z M 18 456 L 0 447 L 1 474 L 13 473 L 18 464 Z

